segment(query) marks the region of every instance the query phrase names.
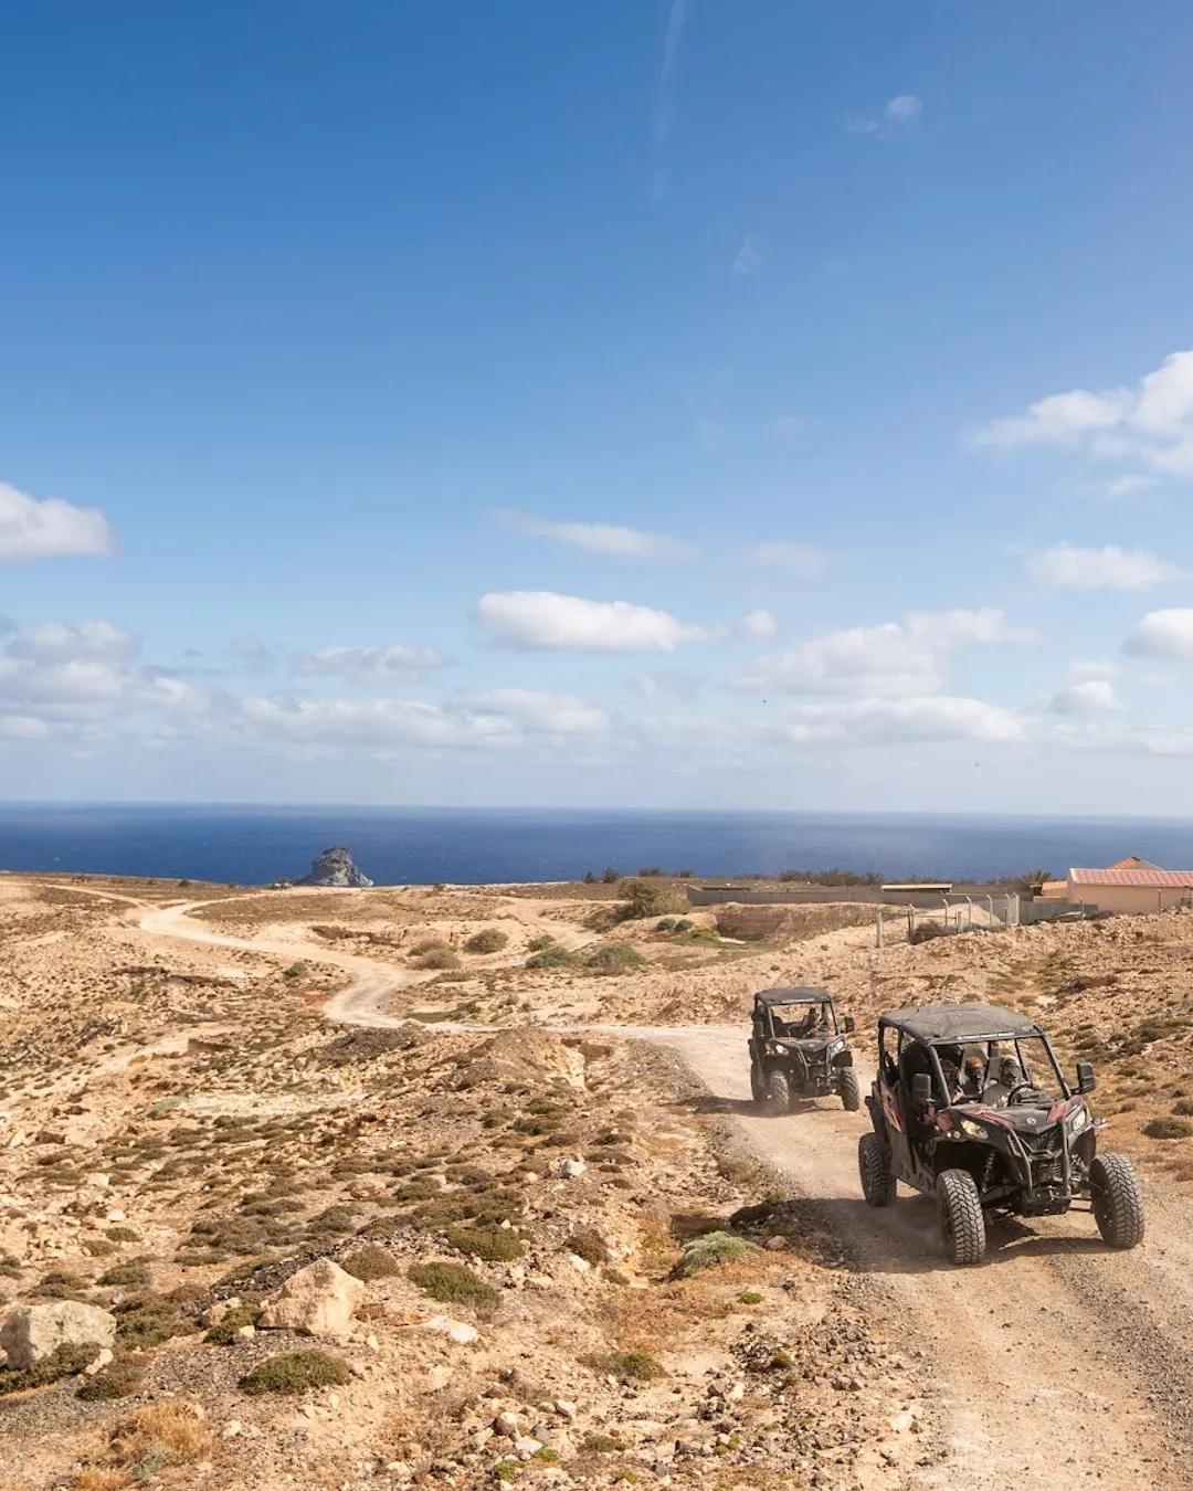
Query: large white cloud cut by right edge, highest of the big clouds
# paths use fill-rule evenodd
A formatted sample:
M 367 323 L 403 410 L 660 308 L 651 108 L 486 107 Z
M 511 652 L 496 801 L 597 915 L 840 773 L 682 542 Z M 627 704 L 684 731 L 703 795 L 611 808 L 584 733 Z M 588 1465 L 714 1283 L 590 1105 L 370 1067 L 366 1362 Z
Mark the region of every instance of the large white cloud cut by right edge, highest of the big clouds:
M 1127 495 L 1159 477 L 1193 477 L 1193 350 L 1171 353 L 1133 389 L 1050 394 L 1022 414 L 992 419 L 971 440 L 1004 449 L 1059 446 L 1139 468 L 1107 482 L 1107 497 Z

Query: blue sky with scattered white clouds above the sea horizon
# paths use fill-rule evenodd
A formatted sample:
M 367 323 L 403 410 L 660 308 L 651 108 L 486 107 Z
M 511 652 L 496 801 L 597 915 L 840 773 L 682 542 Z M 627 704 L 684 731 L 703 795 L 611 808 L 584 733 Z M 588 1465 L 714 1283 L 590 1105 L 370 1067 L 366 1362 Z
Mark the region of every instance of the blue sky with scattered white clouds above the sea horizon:
M 1189 813 L 1192 60 L 22 7 L 0 796 Z

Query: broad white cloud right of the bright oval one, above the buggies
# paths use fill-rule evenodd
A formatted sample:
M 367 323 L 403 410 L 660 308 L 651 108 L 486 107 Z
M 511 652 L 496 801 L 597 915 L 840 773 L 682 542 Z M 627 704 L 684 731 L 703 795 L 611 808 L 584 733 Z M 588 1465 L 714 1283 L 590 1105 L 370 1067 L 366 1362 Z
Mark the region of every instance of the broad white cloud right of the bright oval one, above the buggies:
M 871 699 L 941 693 L 948 655 L 981 643 L 1029 641 L 1002 611 L 914 613 L 902 623 L 829 632 L 759 658 L 737 681 L 750 692 L 852 693 Z

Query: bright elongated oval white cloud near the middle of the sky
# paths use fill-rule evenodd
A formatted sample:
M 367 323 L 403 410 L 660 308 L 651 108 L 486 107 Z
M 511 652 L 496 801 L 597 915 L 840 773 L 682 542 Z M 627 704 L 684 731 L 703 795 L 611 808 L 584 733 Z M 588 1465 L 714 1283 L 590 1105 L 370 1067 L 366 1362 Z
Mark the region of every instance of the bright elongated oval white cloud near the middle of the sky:
M 476 617 L 495 641 L 523 650 L 674 652 L 725 635 L 725 628 L 693 626 L 649 605 L 552 590 L 495 590 L 480 598 Z

